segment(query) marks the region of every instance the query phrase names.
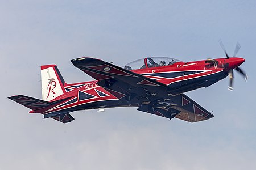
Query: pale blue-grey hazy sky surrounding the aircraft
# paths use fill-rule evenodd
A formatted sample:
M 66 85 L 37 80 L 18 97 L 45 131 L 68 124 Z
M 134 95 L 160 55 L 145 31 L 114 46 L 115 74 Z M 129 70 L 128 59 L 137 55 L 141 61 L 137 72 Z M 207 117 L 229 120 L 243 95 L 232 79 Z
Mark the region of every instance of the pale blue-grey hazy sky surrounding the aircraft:
M 0 0 L 0 169 L 253 169 L 256 167 L 255 1 Z M 194 124 L 110 108 L 72 112 L 61 124 L 7 99 L 41 99 L 40 65 L 67 83 L 92 80 L 81 56 L 123 66 L 146 56 L 181 61 L 230 56 L 236 43 L 247 82 L 234 72 L 186 93 L 214 118 Z

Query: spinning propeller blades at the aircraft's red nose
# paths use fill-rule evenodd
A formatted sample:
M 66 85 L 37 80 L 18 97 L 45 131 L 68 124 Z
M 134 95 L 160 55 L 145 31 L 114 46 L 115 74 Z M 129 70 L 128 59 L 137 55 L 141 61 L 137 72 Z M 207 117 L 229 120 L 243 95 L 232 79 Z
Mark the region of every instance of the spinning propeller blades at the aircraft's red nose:
M 225 46 L 224 46 L 223 42 L 221 40 L 219 42 L 220 42 L 221 48 L 224 50 L 224 52 L 226 54 L 226 59 L 229 59 L 230 57 L 229 57 L 228 53 L 226 52 L 226 49 L 225 49 Z M 237 55 L 237 53 L 239 52 L 240 49 L 241 49 L 241 45 L 237 42 L 236 48 L 234 50 L 233 57 L 235 57 Z M 229 66 L 229 64 L 225 63 L 224 64 L 224 69 L 228 70 L 228 66 Z M 245 81 L 247 80 L 248 76 L 245 73 L 245 71 L 243 71 L 240 67 L 236 67 L 235 70 L 238 71 L 238 73 L 240 73 L 243 76 Z M 233 90 L 233 80 L 234 80 L 233 69 L 228 70 L 228 74 L 229 74 L 229 86 L 228 86 L 228 89 L 232 91 Z

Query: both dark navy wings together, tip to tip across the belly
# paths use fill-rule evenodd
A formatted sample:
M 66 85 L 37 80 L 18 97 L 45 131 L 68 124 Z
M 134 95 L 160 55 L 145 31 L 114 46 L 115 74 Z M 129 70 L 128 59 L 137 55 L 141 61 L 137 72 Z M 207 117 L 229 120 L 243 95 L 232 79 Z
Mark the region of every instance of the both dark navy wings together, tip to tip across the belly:
M 213 115 L 184 94 L 172 96 L 166 84 L 149 79 L 112 63 L 95 58 L 77 58 L 71 61 L 84 73 L 98 80 L 104 87 L 123 103 L 133 103 L 138 111 L 166 118 L 180 118 L 197 122 L 212 118 Z

